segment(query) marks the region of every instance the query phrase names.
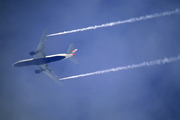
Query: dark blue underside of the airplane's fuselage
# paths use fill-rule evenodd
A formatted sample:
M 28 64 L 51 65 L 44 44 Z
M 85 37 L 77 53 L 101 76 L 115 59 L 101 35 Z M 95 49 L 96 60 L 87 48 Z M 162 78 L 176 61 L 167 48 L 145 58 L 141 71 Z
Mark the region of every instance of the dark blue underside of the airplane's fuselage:
M 64 59 L 65 56 L 55 56 L 55 57 L 48 57 L 48 58 L 39 58 L 39 59 L 33 59 L 29 61 L 24 62 L 17 62 L 14 64 L 15 67 L 23 67 L 23 66 L 29 66 L 29 65 L 42 65 L 47 64 L 50 62 L 55 62 L 58 60 Z

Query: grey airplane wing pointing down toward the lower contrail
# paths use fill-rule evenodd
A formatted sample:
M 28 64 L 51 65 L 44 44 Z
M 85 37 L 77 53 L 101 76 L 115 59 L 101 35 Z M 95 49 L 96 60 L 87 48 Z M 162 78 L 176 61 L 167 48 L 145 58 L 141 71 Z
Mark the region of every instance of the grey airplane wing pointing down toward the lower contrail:
M 60 82 L 60 80 L 57 78 L 57 76 L 54 75 L 53 71 L 50 69 L 48 64 L 43 64 L 43 65 L 38 65 L 39 68 L 49 77 L 51 77 L 53 80 L 55 80 L 56 82 L 58 82 L 59 84 L 62 85 L 62 83 Z

